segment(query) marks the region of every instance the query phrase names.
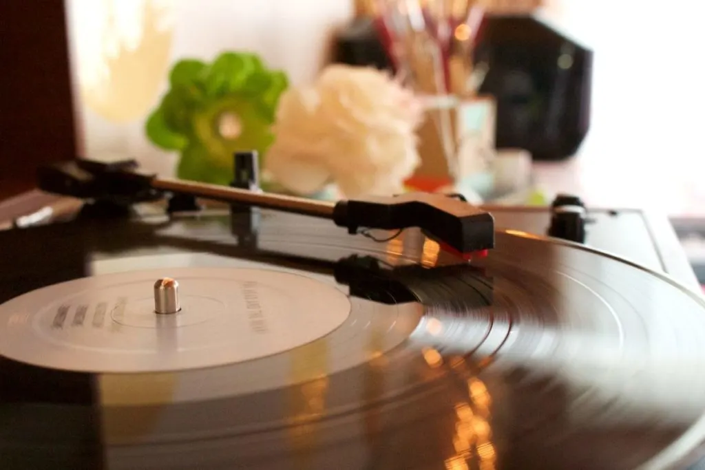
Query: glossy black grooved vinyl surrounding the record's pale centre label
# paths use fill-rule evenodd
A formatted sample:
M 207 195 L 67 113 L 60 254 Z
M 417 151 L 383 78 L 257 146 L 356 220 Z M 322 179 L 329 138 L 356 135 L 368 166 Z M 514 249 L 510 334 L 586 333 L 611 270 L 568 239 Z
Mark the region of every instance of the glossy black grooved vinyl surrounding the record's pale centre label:
M 20 276 L 23 292 L 88 274 L 254 266 L 316 276 L 349 295 L 350 314 L 305 345 L 204 369 L 71 373 L 0 359 L 9 468 L 675 468 L 704 435 L 701 299 L 589 249 L 498 233 L 469 266 L 413 230 L 382 243 L 269 213 L 47 233 L 66 252 Z M 9 254 L 39 235 L 0 241 Z

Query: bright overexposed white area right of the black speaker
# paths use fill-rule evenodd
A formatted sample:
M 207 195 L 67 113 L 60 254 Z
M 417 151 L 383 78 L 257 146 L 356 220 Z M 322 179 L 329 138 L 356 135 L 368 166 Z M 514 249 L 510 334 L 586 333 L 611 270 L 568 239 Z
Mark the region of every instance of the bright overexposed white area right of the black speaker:
M 559 1 L 555 19 L 595 53 L 592 119 L 570 171 L 541 168 L 546 185 L 599 206 L 705 214 L 705 4 Z

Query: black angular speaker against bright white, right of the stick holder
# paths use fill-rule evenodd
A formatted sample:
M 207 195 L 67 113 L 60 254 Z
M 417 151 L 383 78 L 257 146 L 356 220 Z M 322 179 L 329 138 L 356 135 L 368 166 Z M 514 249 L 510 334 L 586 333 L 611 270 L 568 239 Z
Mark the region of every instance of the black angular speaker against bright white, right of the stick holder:
M 485 18 L 474 63 L 488 70 L 479 93 L 497 100 L 497 147 L 534 160 L 575 154 L 589 128 L 592 56 L 536 18 Z

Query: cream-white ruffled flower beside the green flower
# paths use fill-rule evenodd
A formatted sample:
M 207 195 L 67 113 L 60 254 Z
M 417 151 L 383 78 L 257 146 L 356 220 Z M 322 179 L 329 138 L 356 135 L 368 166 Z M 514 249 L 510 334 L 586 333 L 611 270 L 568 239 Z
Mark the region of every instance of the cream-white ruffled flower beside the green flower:
M 298 194 L 333 182 L 345 197 L 396 194 L 419 164 L 422 119 L 422 102 L 386 73 L 328 66 L 281 96 L 266 170 Z

